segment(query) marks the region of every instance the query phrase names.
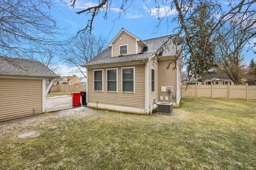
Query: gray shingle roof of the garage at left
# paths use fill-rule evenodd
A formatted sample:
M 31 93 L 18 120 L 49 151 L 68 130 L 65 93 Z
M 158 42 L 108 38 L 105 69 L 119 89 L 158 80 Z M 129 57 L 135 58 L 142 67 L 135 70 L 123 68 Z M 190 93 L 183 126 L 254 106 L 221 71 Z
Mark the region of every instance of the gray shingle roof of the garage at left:
M 0 75 L 59 77 L 52 70 L 38 61 L 0 56 Z

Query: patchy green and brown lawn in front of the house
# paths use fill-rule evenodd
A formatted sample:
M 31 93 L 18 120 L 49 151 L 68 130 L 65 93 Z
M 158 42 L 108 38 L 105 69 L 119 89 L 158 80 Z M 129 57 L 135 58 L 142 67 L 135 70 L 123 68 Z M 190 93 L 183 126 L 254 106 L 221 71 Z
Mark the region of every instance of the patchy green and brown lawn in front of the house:
M 183 98 L 173 116 L 84 108 L 1 122 L 0 169 L 256 169 L 255 107 Z

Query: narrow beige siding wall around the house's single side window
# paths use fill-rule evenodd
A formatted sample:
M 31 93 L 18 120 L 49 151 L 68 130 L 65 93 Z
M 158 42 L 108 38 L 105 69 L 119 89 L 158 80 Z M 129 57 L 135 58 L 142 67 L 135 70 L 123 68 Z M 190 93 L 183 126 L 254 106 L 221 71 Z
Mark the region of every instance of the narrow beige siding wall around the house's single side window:
M 155 70 L 155 91 L 151 92 L 151 68 Z M 148 62 L 148 102 L 153 104 L 154 98 L 155 102 L 158 102 L 158 91 L 159 91 L 159 86 L 158 86 L 158 63 L 155 61 L 153 64 L 153 59 Z

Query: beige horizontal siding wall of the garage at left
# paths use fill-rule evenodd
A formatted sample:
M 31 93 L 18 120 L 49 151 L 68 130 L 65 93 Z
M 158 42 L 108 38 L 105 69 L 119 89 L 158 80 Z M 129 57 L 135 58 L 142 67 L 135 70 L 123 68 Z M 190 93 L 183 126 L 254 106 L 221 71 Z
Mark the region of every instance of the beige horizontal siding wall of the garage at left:
M 0 78 L 0 121 L 42 113 L 42 80 Z

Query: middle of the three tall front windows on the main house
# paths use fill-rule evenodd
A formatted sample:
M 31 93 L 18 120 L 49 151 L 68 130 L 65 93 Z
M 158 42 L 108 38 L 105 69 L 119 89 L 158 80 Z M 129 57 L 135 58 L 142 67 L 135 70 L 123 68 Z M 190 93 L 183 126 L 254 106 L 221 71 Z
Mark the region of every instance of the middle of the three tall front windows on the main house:
M 117 92 L 117 68 L 107 69 L 107 91 Z

